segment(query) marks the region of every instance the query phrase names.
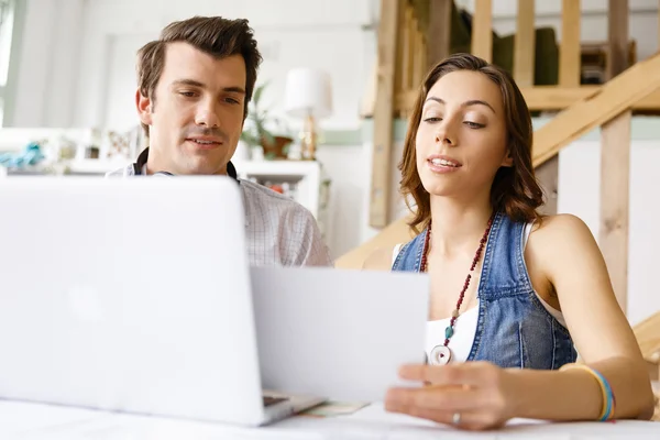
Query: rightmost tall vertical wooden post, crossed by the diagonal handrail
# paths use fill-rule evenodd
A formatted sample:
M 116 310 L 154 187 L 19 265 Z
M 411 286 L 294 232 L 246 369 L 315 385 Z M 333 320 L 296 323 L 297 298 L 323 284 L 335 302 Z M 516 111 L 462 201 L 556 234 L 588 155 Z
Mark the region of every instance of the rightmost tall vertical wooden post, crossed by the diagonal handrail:
M 628 0 L 609 0 L 609 78 L 620 75 L 628 59 Z M 618 304 L 628 306 L 628 233 L 630 182 L 630 110 L 601 130 L 601 227 L 603 252 Z

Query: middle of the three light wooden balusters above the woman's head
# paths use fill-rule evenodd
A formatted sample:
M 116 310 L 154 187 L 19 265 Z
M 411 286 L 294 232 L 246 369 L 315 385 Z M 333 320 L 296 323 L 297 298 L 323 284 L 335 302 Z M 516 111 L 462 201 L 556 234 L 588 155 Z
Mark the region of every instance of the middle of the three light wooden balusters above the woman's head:
M 514 78 L 518 87 L 534 86 L 536 52 L 535 0 L 518 0 L 518 19 L 514 47 Z

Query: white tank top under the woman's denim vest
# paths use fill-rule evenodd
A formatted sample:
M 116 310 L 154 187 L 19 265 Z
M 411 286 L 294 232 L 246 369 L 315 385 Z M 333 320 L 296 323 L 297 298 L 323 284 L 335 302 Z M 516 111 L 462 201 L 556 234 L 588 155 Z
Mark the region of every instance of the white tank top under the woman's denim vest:
M 527 223 L 525 226 L 525 235 L 522 239 L 522 250 L 525 250 L 525 246 L 527 245 L 527 240 L 529 239 L 529 233 L 531 232 L 532 224 L 534 224 L 534 222 Z M 394 252 L 392 255 L 392 264 L 394 264 L 394 261 L 396 260 L 396 257 L 402 249 L 402 245 L 403 245 L 403 243 L 394 246 Z M 481 278 L 480 278 L 480 283 L 481 283 Z M 479 289 L 479 285 L 477 285 L 477 289 Z M 552 306 L 550 306 L 548 302 L 546 302 L 543 300 L 543 298 L 541 298 L 536 290 L 535 290 L 535 294 L 537 295 L 537 298 L 539 298 L 539 301 L 541 301 L 541 304 L 543 305 L 546 310 L 548 310 L 548 312 L 550 315 L 552 315 L 563 327 L 566 327 L 565 320 L 563 318 L 563 314 L 561 311 L 557 310 L 556 308 L 553 308 Z M 452 353 L 451 353 L 452 362 L 464 362 L 465 360 L 468 360 L 468 356 L 470 355 L 470 350 L 472 350 L 472 343 L 474 341 L 474 336 L 476 334 L 477 318 L 479 318 L 479 299 L 477 299 L 475 307 L 463 311 L 459 316 L 459 319 L 457 319 L 455 327 L 454 327 L 454 333 L 449 341 L 449 348 L 452 351 Z M 444 329 L 449 326 L 449 321 L 450 321 L 450 318 L 439 319 L 436 321 L 427 322 L 427 334 L 426 334 L 427 356 L 430 358 L 431 350 L 433 350 L 435 346 L 442 345 L 444 343 Z

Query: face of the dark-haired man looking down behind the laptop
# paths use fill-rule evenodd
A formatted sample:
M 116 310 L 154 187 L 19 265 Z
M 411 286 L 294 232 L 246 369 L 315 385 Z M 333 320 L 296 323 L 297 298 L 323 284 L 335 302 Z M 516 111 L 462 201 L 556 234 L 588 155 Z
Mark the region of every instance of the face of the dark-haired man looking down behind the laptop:
M 243 130 L 245 62 L 217 59 L 193 45 L 165 48 L 153 99 L 136 94 L 140 119 L 150 127 L 150 173 L 227 174 Z

